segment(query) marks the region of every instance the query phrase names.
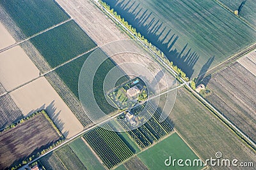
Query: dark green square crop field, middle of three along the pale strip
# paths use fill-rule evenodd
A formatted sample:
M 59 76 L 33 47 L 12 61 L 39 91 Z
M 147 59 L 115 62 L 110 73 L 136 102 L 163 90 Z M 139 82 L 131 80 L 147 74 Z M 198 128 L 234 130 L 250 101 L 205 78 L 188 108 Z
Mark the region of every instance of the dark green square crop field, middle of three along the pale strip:
M 51 67 L 59 66 L 96 46 L 73 20 L 31 38 L 30 41 Z

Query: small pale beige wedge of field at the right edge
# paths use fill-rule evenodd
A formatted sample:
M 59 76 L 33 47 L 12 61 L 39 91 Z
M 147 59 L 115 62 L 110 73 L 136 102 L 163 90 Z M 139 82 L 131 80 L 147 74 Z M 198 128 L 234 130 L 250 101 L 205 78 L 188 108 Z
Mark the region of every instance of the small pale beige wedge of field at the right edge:
M 256 76 L 256 50 L 253 50 L 250 53 L 247 53 L 244 57 L 237 60 L 242 66 L 244 66 L 248 71 Z

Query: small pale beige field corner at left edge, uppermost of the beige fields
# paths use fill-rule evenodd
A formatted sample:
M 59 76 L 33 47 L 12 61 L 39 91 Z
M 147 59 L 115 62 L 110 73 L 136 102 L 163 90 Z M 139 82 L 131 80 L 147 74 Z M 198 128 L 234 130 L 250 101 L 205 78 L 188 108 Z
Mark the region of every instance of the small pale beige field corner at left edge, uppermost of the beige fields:
M 1 41 L 0 49 L 15 43 L 15 39 L 12 38 L 11 34 L 6 30 L 4 25 L 0 22 Z

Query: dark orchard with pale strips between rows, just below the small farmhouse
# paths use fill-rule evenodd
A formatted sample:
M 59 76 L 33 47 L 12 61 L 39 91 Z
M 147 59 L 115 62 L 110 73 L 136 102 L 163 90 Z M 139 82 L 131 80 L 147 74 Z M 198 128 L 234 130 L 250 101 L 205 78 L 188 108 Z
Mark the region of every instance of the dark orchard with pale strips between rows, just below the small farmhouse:
M 152 115 L 152 118 L 150 118 L 147 123 L 132 131 L 128 131 L 129 126 L 127 124 L 122 124 L 122 127 L 127 130 L 126 133 L 136 142 L 141 150 L 156 143 L 159 139 L 173 131 L 173 127 L 166 120 L 164 120 L 164 122 L 159 122 L 161 114 L 159 111 L 155 112 L 154 108 L 149 103 L 148 105 L 147 111 Z M 133 108 L 131 112 L 134 113 L 134 115 L 138 115 L 143 108 L 145 108 L 145 104 Z

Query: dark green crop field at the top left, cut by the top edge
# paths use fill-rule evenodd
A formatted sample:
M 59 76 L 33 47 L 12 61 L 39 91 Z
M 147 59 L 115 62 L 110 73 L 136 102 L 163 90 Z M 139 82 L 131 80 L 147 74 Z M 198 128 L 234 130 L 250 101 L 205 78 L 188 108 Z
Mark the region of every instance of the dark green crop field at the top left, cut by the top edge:
M 26 36 L 32 36 L 70 18 L 54 1 L 0 1 Z

